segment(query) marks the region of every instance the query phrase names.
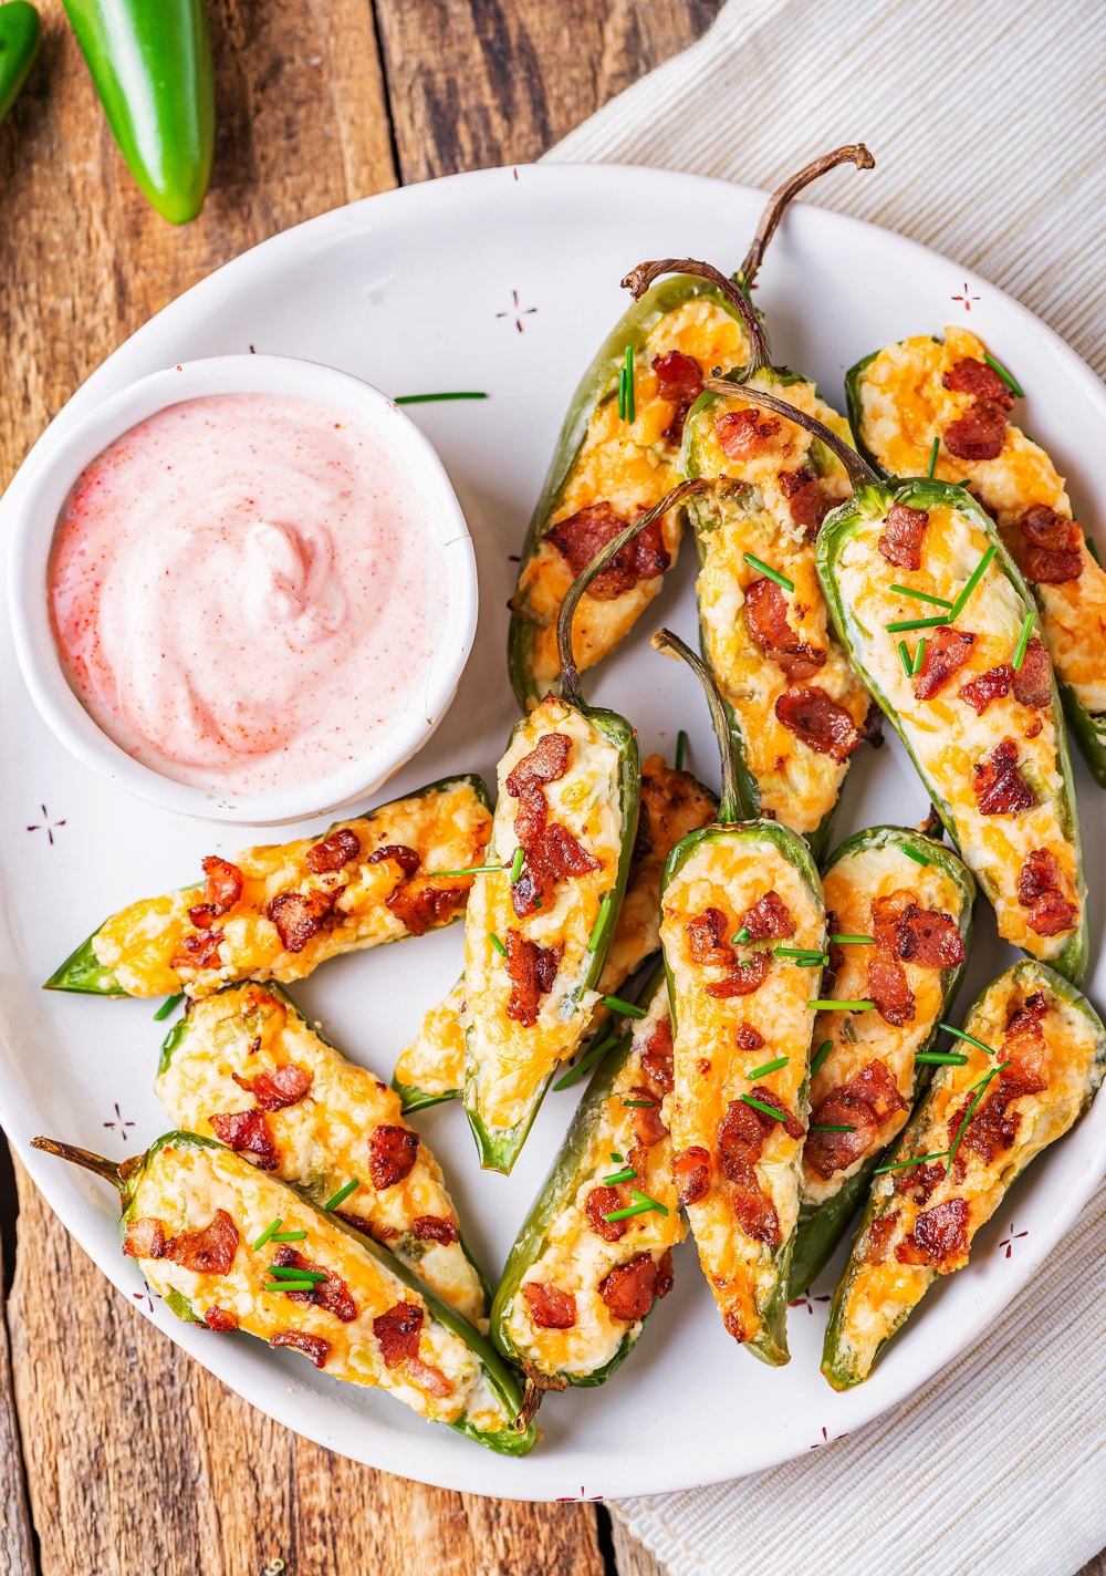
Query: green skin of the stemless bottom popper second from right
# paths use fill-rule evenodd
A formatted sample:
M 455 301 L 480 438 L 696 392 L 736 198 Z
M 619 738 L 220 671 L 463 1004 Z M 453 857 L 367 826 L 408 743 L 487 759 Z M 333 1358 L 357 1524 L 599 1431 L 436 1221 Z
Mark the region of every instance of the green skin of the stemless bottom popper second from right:
M 964 977 L 964 969 L 967 968 L 967 953 L 972 944 L 972 905 L 975 901 L 975 879 L 971 870 L 950 848 L 931 837 L 923 837 L 920 832 L 914 832 L 909 827 L 873 826 L 867 832 L 857 832 L 854 837 L 848 837 L 843 843 L 840 843 L 829 859 L 824 860 L 822 873 L 827 875 L 838 860 L 851 859 L 854 854 L 863 853 L 867 848 L 887 848 L 890 845 L 901 846 L 903 843 L 911 843 L 914 848 L 925 849 L 930 862 L 941 865 L 948 879 L 961 892 L 958 928 L 959 939 L 964 942 L 964 961 L 956 968 L 941 971 L 941 1012 L 937 1013 L 928 1037 L 922 1042 L 922 1045 L 919 1045 L 919 1051 L 931 1051 L 936 1045 L 937 1035 L 941 1034 L 939 1020 L 944 1018 L 952 1007 Z M 909 1097 L 911 1103 L 917 1100 L 928 1080 L 928 1064 L 920 1062 L 914 1069 L 914 1089 Z M 870 1155 L 851 1177 L 846 1177 L 838 1191 L 832 1198 L 827 1198 L 826 1202 L 813 1204 L 807 1199 L 800 1202 L 799 1231 L 796 1234 L 796 1250 L 791 1259 L 791 1286 L 788 1292 L 791 1299 L 805 1292 L 829 1264 L 833 1256 L 833 1250 L 844 1236 L 844 1228 L 849 1225 L 854 1210 L 868 1190 L 871 1173 L 879 1165 L 881 1154 L 882 1152 Z

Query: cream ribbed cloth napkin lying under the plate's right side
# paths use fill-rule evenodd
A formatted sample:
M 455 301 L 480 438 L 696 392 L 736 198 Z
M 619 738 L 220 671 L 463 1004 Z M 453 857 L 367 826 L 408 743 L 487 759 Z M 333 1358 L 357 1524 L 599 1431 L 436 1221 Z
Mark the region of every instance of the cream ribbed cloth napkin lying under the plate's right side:
M 813 202 L 966 263 L 1101 375 L 1104 65 L 1097 0 L 729 0 L 547 158 L 774 188 L 863 140 L 878 170 Z M 807 1459 L 614 1513 L 673 1576 L 1073 1576 L 1106 1546 L 1104 1266 L 1100 1191 L 912 1401 Z

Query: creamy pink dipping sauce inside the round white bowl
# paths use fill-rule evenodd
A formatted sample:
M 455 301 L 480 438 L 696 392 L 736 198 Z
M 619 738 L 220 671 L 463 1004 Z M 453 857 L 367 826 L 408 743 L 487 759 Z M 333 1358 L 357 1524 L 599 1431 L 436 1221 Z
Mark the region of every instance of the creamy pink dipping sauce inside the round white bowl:
M 356 416 L 271 394 L 170 405 L 58 519 L 54 635 L 85 709 L 176 782 L 260 794 L 361 760 L 418 706 L 446 572 Z

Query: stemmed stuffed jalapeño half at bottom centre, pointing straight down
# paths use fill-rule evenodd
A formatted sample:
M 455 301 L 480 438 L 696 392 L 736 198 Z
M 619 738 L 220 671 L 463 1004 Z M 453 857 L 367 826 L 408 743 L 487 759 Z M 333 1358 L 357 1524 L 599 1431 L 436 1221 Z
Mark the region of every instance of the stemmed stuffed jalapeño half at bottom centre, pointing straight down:
M 707 670 L 666 630 L 654 645 L 703 679 L 723 752 L 718 820 L 676 845 L 662 890 L 673 1179 L 726 1330 L 780 1365 L 826 911 L 802 838 L 739 820 L 726 714 Z

